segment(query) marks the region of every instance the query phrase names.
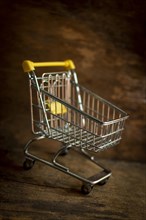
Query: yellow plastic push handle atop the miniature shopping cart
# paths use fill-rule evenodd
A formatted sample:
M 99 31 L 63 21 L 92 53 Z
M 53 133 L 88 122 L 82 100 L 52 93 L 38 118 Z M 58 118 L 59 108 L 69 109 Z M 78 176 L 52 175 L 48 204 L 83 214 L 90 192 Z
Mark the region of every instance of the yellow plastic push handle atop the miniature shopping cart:
M 22 63 L 24 72 L 31 72 L 35 70 L 35 67 L 65 67 L 67 70 L 75 69 L 75 65 L 72 60 L 65 60 L 62 62 L 32 62 L 30 60 L 24 60 Z

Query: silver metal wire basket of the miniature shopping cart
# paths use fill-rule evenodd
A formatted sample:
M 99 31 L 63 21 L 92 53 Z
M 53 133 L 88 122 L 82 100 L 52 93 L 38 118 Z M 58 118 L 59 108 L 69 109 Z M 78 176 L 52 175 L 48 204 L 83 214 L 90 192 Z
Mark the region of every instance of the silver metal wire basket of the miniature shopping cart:
M 40 91 L 30 79 L 32 130 L 63 143 L 100 151 L 121 140 L 126 113 L 91 91 L 74 83 L 70 71 L 45 73 L 37 77 Z M 35 93 L 35 97 L 34 97 Z M 43 99 L 45 114 L 40 102 Z M 48 103 L 57 103 L 66 112 L 54 114 Z

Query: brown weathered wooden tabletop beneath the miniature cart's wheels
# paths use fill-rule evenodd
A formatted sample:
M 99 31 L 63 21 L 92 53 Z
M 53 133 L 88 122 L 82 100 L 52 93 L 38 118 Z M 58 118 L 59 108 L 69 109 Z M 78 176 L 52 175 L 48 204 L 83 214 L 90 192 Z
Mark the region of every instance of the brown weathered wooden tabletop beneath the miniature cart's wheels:
M 37 144 L 37 155 L 51 158 L 51 144 L 46 147 L 39 142 L 41 151 Z M 80 192 L 80 181 L 42 163 L 36 162 L 31 170 L 24 171 L 22 146 L 6 148 L 3 145 L 0 156 L 1 220 L 145 219 L 145 164 L 100 160 L 113 174 L 106 185 L 95 186 L 85 196 Z M 86 176 L 98 171 L 73 150 L 60 160 Z

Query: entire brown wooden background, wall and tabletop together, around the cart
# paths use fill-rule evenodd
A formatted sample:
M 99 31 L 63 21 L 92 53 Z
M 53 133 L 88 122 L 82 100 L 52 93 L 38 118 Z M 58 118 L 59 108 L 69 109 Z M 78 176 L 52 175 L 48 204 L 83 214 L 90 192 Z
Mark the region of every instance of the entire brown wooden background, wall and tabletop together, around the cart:
M 145 220 L 145 0 L 0 1 L 0 219 Z M 81 84 L 129 115 L 123 140 L 96 154 L 112 170 L 82 195 L 81 181 L 36 161 L 24 171 L 32 137 L 22 61 L 72 59 Z M 53 158 L 54 142 L 36 142 Z M 59 161 L 86 177 L 99 170 L 70 150 Z M 39 155 L 38 155 L 39 156 Z

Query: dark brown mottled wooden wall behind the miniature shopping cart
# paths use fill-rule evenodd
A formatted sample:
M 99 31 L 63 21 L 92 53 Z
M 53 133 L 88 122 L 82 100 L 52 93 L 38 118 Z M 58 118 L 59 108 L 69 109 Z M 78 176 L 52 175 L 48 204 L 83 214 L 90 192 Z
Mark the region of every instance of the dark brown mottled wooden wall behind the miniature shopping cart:
M 31 137 L 22 61 L 72 59 L 82 85 L 130 115 L 121 144 L 99 157 L 144 162 L 145 25 L 144 0 L 1 1 L 1 157 Z

